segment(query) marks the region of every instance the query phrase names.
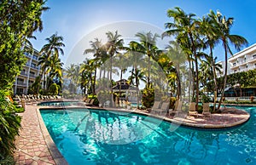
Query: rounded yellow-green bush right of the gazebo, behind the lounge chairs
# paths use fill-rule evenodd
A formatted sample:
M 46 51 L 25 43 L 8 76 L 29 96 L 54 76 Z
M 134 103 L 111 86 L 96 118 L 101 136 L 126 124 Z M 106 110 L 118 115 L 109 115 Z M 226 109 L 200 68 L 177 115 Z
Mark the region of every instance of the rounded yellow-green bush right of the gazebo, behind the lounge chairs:
M 154 105 L 154 88 L 151 85 L 147 85 L 143 88 L 143 106 L 150 108 Z

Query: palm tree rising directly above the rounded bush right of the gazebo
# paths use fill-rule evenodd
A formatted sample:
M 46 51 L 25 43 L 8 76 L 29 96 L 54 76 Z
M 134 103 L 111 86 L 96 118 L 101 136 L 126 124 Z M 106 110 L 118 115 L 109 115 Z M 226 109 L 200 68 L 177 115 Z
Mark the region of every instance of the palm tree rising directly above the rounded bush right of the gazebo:
M 151 31 L 144 33 L 144 32 L 137 32 L 135 35 L 139 37 L 140 46 L 137 50 L 140 53 L 148 55 L 148 79 L 147 84 L 150 83 L 150 60 L 151 58 L 155 58 L 156 54 L 158 54 L 159 49 L 156 47 L 157 38 L 160 37 L 157 33 L 152 34 Z

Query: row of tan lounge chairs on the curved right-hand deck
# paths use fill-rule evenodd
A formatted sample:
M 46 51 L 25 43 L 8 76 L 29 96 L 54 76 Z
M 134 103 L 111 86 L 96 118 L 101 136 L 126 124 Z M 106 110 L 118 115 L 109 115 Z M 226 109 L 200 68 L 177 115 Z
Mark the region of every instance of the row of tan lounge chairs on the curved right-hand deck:
M 153 114 L 159 113 L 160 115 L 164 112 L 171 116 L 174 114 L 176 117 L 186 117 L 186 116 L 195 116 L 198 117 L 199 114 L 195 111 L 195 102 L 191 102 L 189 104 L 189 111 L 183 111 L 183 101 L 177 100 L 175 102 L 174 108 L 169 109 L 169 102 L 161 102 L 161 101 L 154 101 L 153 107 L 150 109 Z M 210 106 L 209 103 L 204 103 L 203 105 L 203 117 L 211 117 Z

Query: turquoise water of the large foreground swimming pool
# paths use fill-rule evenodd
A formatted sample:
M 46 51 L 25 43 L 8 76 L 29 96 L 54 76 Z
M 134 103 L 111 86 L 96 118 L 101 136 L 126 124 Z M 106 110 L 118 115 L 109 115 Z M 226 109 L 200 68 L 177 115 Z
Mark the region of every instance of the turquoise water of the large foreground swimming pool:
M 175 128 L 132 113 L 41 111 L 49 134 L 73 164 L 256 164 L 256 107 L 245 124 L 224 130 Z M 172 130 L 172 131 L 171 131 Z

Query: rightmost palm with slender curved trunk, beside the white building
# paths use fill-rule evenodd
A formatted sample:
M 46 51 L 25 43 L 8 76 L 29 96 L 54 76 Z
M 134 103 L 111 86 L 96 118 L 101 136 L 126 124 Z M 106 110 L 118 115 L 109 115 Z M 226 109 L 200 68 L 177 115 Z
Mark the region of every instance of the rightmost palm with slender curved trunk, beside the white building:
M 215 31 L 216 35 L 218 37 L 218 40 L 222 42 L 225 52 L 224 84 L 218 104 L 219 109 L 224 97 L 224 88 L 227 83 L 228 53 L 232 55 L 230 44 L 233 44 L 237 50 L 240 50 L 241 46 L 247 45 L 247 40 L 239 35 L 230 34 L 230 28 L 231 26 L 233 26 L 234 22 L 233 18 L 226 19 L 226 17 L 218 11 L 217 14 L 214 14 L 214 12 L 211 11 L 211 13 L 208 16 L 212 20 L 212 26 L 214 26 L 217 29 L 217 31 Z

